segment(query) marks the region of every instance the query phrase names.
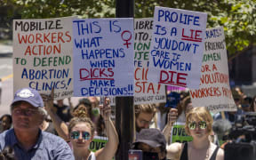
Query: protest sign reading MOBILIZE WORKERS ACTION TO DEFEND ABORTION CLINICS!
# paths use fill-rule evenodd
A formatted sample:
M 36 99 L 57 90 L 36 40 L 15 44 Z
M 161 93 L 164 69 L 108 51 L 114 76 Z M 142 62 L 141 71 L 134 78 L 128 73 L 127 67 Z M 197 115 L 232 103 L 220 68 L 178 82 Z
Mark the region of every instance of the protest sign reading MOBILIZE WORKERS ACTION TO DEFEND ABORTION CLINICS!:
M 73 95 L 72 18 L 13 21 L 13 89 Z

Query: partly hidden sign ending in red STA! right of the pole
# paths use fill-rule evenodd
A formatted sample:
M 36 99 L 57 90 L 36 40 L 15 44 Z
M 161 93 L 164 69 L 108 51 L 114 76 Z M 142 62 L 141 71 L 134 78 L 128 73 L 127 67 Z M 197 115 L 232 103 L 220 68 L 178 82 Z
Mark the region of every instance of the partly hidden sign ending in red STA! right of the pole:
M 165 102 L 165 85 L 148 82 L 153 18 L 134 20 L 134 104 Z

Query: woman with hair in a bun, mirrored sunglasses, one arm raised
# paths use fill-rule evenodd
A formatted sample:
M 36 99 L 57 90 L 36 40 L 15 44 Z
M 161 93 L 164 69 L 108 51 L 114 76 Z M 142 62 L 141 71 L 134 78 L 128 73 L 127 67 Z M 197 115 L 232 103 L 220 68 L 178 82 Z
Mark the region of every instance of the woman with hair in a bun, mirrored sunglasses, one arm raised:
M 86 116 L 75 116 L 68 125 L 70 142 L 76 160 L 111 160 L 116 154 L 119 143 L 116 128 L 110 119 L 111 108 L 108 100 L 104 105 L 100 105 L 100 115 L 104 118 L 108 142 L 104 148 L 97 150 L 95 153 L 89 150 L 93 134 L 95 131 L 92 120 Z

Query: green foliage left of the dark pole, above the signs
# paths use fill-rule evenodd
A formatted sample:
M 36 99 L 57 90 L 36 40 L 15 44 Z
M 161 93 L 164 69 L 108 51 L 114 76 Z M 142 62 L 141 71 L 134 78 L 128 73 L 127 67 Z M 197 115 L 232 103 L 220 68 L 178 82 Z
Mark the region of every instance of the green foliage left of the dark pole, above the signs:
M 22 19 L 42 19 L 67 16 L 101 18 L 115 16 L 112 0 L 4 0 L 21 9 Z

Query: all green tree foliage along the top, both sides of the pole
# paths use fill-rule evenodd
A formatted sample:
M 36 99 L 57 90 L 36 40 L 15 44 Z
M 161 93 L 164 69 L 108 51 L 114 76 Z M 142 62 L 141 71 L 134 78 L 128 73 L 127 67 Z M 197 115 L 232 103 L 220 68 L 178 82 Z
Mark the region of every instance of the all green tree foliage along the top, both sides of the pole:
M 22 19 L 79 15 L 82 18 L 115 17 L 114 0 L 3 0 Z M 2 5 L 2 6 L 3 6 Z M 229 56 L 254 44 L 256 0 L 135 0 L 135 18 L 153 17 L 155 6 L 207 12 L 207 28 L 222 26 Z

